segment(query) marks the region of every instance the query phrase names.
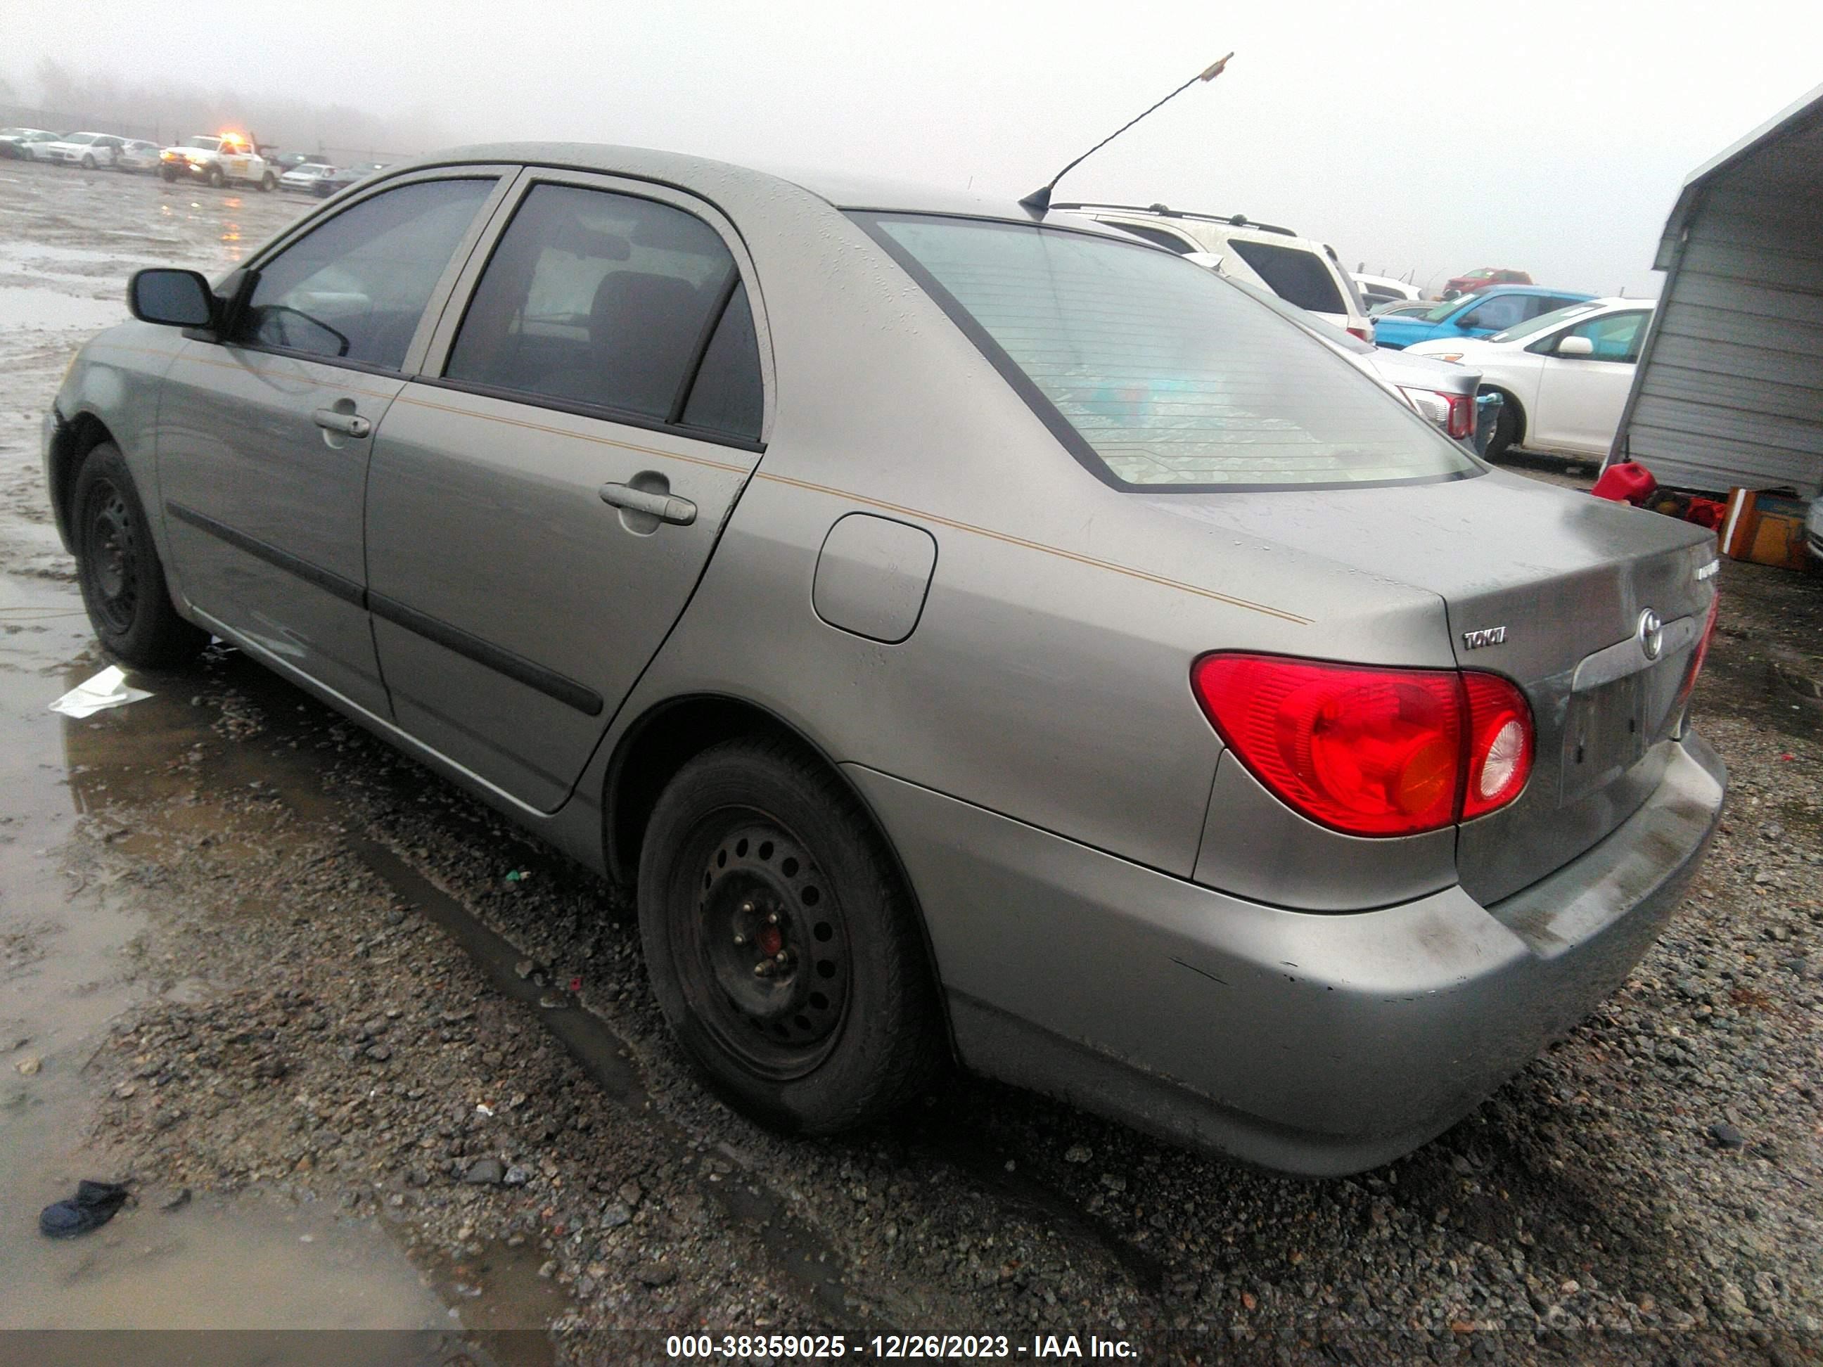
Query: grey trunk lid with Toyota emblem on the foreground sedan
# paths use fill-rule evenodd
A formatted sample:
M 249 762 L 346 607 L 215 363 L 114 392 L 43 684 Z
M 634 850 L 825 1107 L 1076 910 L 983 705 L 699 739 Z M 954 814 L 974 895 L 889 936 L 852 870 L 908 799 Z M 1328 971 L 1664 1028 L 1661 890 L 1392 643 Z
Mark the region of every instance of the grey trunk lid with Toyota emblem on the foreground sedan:
M 1699 572 L 1715 541 L 1701 527 L 1499 470 L 1152 505 L 1435 592 L 1457 663 L 1526 691 L 1531 782 L 1517 802 L 1458 827 L 1458 877 L 1477 900 L 1509 897 L 1584 853 L 1657 786 L 1661 742 L 1679 724 L 1679 685 L 1714 596 L 1714 578 Z M 1659 620 L 1650 658 L 1648 611 Z

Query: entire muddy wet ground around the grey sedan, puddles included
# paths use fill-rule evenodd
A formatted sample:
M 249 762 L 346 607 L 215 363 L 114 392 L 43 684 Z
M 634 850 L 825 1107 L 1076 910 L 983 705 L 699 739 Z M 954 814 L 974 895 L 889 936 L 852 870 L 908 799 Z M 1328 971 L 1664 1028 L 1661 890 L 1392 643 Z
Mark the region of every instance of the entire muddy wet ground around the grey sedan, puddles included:
M 687 1075 L 623 893 L 235 651 L 46 711 L 104 663 L 38 470 L 71 348 L 135 266 L 221 270 L 306 208 L 0 162 L 0 1327 L 397 1331 L 248 1362 L 664 1360 L 696 1329 L 1818 1358 L 1823 711 L 1790 680 L 1823 580 L 1725 565 L 1715 853 L 1628 984 L 1418 1154 L 1296 1181 L 970 1079 L 788 1141 Z M 135 1201 L 42 1239 L 78 1177 Z

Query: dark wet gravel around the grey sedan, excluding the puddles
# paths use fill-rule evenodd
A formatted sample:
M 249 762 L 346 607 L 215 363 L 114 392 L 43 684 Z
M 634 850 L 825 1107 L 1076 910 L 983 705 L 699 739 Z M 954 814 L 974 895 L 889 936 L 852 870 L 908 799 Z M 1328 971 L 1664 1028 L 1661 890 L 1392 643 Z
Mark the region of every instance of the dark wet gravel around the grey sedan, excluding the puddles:
M 35 417 L 55 379 L 9 370 L 0 408 Z M 0 463 L 31 488 L 16 427 Z M 42 530 L 7 540 L 9 572 L 73 600 Z M 1721 583 L 1697 718 L 1732 797 L 1688 904 L 1588 1023 L 1360 1177 L 1243 1170 L 973 1079 L 840 1141 L 747 1125 L 665 1037 L 622 893 L 233 651 L 66 731 L 88 815 L 55 855 L 146 913 L 86 1123 L 146 1203 L 332 1208 L 390 1230 L 465 1329 L 551 1331 L 500 1360 L 656 1358 L 623 1331 L 706 1325 L 1814 1362 L 1823 705 L 1790 680 L 1818 674 L 1823 580 Z

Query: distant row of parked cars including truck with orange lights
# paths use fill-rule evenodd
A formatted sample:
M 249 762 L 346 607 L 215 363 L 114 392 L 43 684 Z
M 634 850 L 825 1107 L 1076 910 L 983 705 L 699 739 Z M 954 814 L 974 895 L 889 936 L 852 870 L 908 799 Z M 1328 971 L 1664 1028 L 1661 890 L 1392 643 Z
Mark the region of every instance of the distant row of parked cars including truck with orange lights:
M 206 133 L 170 148 L 117 133 L 53 133 L 42 128 L 0 129 L 0 157 L 80 166 L 86 171 L 157 171 L 166 180 L 201 180 L 224 188 L 295 190 L 328 199 L 365 180 L 385 162 L 334 166 L 303 151 L 259 146 L 244 133 Z

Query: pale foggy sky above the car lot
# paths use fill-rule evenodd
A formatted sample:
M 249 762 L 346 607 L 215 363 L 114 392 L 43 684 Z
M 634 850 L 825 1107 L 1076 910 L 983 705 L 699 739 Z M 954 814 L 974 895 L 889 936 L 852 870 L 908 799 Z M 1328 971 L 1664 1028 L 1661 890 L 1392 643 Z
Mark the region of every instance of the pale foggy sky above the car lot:
M 1014 197 L 1234 49 L 1059 197 L 1241 211 L 1420 284 L 1519 266 L 1601 293 L 1657 293 L 1683 179 L 1823 80 L 1823 5 L 1797 0 L 4 9 L 0 78 L 24 102 L 49 55 L 456 142 L 623 142 Z

